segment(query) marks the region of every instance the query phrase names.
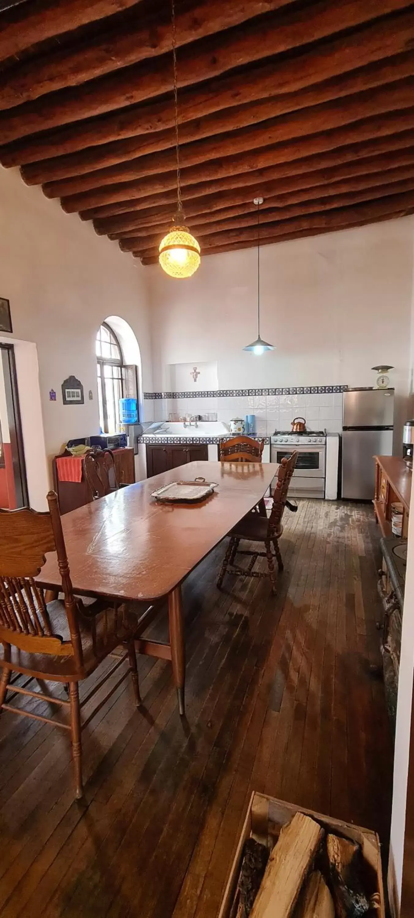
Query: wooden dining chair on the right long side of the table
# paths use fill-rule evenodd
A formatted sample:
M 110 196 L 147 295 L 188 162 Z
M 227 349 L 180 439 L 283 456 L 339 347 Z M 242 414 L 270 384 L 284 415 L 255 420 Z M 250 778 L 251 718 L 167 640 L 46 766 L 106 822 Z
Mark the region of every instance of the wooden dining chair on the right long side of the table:
M 277 562 L 279 571 L 283 571 L 279 539 L 283 532 L 282 517 L 285 510 L 287 491 L 296 465 L 297 453 L 292 453 L 288 459 L 286 457 L 282 459 L 277 473 L 273 505 L 269 519 L 263 519 L 263 516 L 259 516 L 257 513 L 248 513 L 229 533 L 230 539 L 228 549 L 218 575 L 218 589 L 221 589 L 226 574 L 233 574 L 236 577 L 269 576 L 272 583 L 272 592 L 275 594 L 276 581 L 274 560 Z M 259 551 L 258 549 L 240 549 L 239 545 L 241 540 L 263 543 L 264 551 Z M 273 551 L 272 546 L 274 549 Z M 250 555 L 251 560 L 249 565 L 247 567 L 236 565 L 236 554 Z M 263 571 L 253 570 L 257 558 L 261 556 L 267 558 L 268 574 Z

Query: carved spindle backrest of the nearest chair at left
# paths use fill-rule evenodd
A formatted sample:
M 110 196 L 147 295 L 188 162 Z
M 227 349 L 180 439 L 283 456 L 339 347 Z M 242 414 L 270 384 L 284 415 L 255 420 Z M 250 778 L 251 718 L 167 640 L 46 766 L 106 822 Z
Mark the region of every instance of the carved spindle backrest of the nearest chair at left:
M 27 653 L 74 656 L 81 666 L 77 604 L 54 491 L 48 494 L 48 504 L 49 513 L 0 509 L 0 643 L 8 656 L 12 644 Z M 58 555 L 69 641 L 53 632 L 43 590 L 35 580 L 47 552 Z

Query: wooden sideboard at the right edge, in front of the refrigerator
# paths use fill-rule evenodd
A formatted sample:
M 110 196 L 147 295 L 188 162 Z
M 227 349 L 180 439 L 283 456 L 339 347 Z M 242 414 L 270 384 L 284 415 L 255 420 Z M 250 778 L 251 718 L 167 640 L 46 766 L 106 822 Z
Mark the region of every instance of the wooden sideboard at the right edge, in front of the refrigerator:
M 408 537 L 412 472 L 400 456 L 375 456 L 375 516 L 382 534 L 392 535 L 391 504 L 403 507 L 402 537 Z

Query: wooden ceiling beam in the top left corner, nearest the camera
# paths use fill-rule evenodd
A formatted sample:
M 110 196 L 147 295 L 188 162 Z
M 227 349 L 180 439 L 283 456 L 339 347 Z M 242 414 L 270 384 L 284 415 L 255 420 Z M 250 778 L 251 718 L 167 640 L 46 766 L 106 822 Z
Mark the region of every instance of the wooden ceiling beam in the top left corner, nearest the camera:
M 140 0 L 48 0 L 31 3 L 2 17 L 0 27 L 0 60 L 18 54 L 39 41 L 56 38 L 63 32 L 103 19 Z M 36 75 L 35 75 L 36 78 Z

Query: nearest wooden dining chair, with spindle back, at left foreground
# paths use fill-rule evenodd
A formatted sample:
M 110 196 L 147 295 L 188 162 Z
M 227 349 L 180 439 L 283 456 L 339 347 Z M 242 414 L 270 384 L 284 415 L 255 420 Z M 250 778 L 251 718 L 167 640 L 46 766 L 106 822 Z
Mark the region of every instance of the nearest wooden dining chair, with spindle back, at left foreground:
M 48 494 L 49 512 L 32 509 L 0 510 L 0 713 L 13 711 L 34 720 L 51 723 L 71 733 L 75 793 L 83 795 L 82 744 L 84 727 L 95 711 L 81 722 L 81 709 L 106 680 L 125 662 L 129 666 L 110 689 L 106 699 L 129 676 L 140 705 L 140 688 L 134 634 L 148 614 L 140 603 L 111 604 L 101 599 L 90 607 L 73 596 L 73 587 L 62 532 L 58 498 Z M 36 577 L 45 563 L 45 554 L 56 552 L 62 575 L 63 600 L 46 602 Z M 148 607 L 149 604 L 147 604 Z M 125 652 L 95 687 L 79 700 L 79 682 L 95 672 L 118 645 Z M 1 652 L 2 651 L 2 652 Z M 20 687 L 13 682 L 13 693 L 45 701 L 66 709 L 68 720 L 40 716 L 7 703 L 7 687 L 12 673 L 40 681 L 61 682 L 69 686 L 69 700 Z M 99 710 L 106 702 L 101 700 Z

